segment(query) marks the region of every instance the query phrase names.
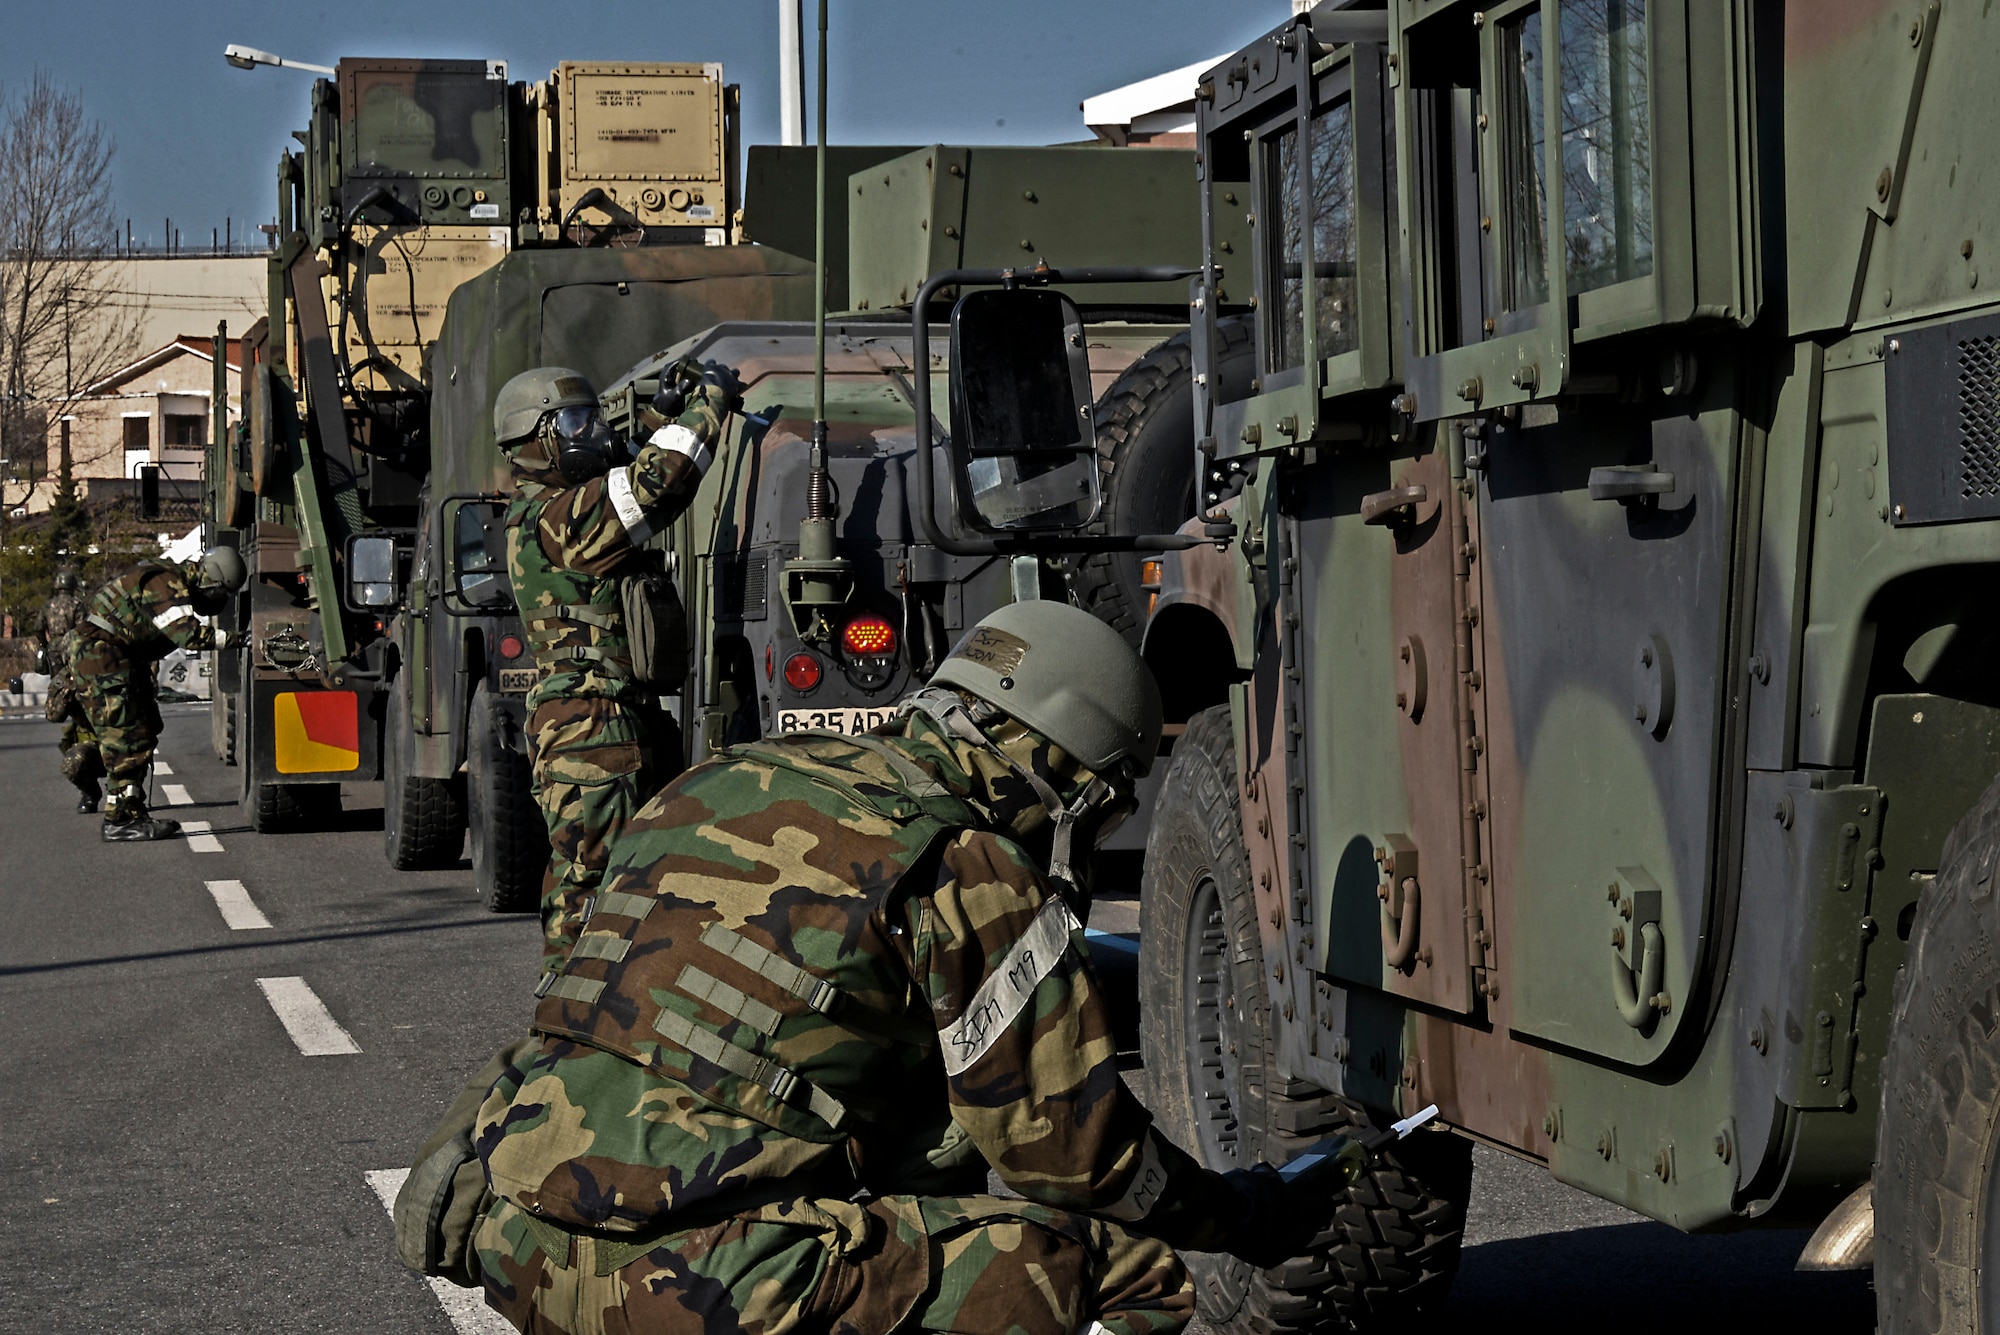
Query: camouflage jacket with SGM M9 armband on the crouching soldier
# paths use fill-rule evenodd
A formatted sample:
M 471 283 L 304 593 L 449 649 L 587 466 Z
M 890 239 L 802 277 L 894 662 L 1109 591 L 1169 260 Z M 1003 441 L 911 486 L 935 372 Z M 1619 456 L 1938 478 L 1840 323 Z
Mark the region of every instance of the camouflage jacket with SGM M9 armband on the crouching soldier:
M 498 1195 L 650 1233 L 798 1199 L 980 1191 L 1218 1247 L 1238 1195 L 1118 1075 L 1082 933 L 922 719 L 670 783 L 480 1111 Z

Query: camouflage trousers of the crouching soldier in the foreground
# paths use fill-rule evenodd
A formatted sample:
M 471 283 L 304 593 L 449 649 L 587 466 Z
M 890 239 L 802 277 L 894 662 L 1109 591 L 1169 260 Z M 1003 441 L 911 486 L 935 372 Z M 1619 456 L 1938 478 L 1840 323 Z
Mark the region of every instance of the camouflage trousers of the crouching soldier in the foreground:
M 474 1245 L 524 1335 L 1164 1335 L 1194 1315 L 1166 1243 L 988 1195 L 790 1201 L 638 1245 L 500 1199 Z

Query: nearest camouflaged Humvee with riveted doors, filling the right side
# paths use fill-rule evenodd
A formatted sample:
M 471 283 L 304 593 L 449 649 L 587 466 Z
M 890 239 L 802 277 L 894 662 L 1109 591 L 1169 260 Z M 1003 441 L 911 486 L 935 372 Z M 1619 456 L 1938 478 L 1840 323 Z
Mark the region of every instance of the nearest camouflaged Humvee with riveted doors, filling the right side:
M 1202 76 L 1152 1105 L 1446 1125 L 1196 1257 L 1218 1327 L 1436 1297 L 1474 1141 L 2000 1321 L 1996 64 L 1952 0 L 1390 0 Z

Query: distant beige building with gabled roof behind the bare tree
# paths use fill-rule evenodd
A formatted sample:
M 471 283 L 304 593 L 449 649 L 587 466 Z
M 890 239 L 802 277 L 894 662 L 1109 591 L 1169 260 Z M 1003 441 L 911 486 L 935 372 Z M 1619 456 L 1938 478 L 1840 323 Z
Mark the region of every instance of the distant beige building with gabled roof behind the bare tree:
M 86 502 L 118 500 L 138 492 L 142 464 L 160 466 L 162 496 L 198 500 L 208 446 L 214 394 L 214 338 L 182 334 L 84 394 L 48 428 L 42 476 L 28 494 L 30 514 L 56 498 L 62 442 L 68 436 L 70 476 Z M 228 414 L 242 408 L 242 342 L 224 344 Z

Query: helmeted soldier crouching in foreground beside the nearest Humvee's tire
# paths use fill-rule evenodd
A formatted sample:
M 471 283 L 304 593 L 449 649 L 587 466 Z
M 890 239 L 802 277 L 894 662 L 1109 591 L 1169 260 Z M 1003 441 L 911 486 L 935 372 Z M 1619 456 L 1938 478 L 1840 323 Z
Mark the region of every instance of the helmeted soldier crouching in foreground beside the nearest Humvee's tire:
M 1074 867 L 1158 733 L 1116 632 L 1014 604 L 880 733 L 736 747 L 646 803 L 476 1117 L 488 1303 L 564 1335 L 1138 1335 L 1192 1315 L 1172 1247 L 1304 1251 L 1328 1179 L 1152 1129 L 1084 959 Z

